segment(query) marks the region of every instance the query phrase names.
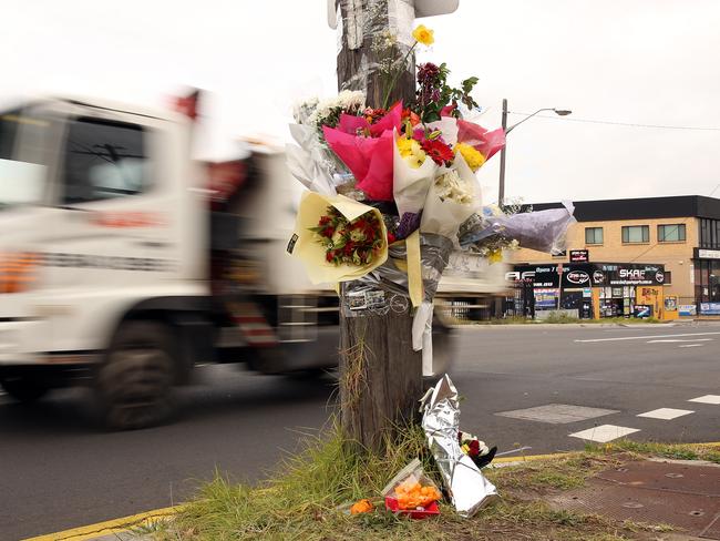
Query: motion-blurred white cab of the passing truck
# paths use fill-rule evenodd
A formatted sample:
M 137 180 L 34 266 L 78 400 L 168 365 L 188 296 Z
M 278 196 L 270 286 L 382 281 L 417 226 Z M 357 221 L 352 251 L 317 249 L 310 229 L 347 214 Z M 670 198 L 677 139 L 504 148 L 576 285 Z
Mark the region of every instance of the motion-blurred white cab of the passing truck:
M 135 357 L 169 347 L 162 318 L 147 325 L 145 317 L 168 307 L 177 325 L 203 327 L 208 220 L 191 136 L 181 114 L 97 101 L 42 99 L 0 113 L 0 384 L 8 394 L 32 399 L 78 378 L 116 387 L 123 370 L 94 368 L 110 366 L 109 351 L 130 341 Z M 185 371 L 143 385 L 156 392 Z M 148 394 L 143 385 L 137 404 Z M 110 392 L 100 391 L 105 406 Z

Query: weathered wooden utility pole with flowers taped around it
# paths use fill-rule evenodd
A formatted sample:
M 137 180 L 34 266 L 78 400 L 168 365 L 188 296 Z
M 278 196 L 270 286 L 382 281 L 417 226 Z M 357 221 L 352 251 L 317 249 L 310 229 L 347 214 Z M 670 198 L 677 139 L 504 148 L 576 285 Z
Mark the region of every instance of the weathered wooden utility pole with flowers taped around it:
M 388 81 L 372 68 L 382 60 L 373 48 L 373 34 L 390 31 L 409 35 L 414 18 L 413 0 L 390 3 L 392 12 L 389 0 L 339 0 L 342 20 L 338 88 L 364 91 L 367 104 L 372 108 L 382 106 Z M 407 51 L 401 47 L 398 54 L 402 58 Z M 409 60 L 389 104 L 400 99 L 405 103 L 414 101 L 412 54 Z M 348 306 L 346 289 L 340 295 L 343 306 Z M 423 390 L 421 353 L 412 349 L 410 299 L 385 292 L 385 302 L 383 309 L 359 310 L 353 317 L 347 317 L 342 306 L 340 310 L 342 427 L 350 441 L 373 451 L 381 451 L 387 437 L 413 420 Z

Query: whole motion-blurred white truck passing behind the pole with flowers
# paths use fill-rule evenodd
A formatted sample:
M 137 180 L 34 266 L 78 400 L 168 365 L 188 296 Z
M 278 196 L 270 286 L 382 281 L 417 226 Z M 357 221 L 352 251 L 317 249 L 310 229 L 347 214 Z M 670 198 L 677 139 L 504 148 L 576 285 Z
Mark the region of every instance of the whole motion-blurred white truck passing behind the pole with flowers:
M 165 420 L 200 363 L 337 366 L 337 295 L 285 253 L 301 187 L 282 150 L 193 160 L 196 108 L 179 109 L 63 96 L 0 112 L 0 386 L 14 399 L 85 385 L 102 422 L 133 429 Z M 472 275 L 441 297 L 479 289 Z M 433 336 L 442 370 L 442 317 Z

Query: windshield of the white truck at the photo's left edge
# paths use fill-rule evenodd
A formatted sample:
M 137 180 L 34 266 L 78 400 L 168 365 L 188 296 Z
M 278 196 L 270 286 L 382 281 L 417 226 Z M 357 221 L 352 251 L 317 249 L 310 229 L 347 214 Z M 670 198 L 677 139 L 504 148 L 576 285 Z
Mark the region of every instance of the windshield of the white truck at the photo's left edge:
M 49 126 L 21 110 L 0 112 L 0 210 L 41 202 Z

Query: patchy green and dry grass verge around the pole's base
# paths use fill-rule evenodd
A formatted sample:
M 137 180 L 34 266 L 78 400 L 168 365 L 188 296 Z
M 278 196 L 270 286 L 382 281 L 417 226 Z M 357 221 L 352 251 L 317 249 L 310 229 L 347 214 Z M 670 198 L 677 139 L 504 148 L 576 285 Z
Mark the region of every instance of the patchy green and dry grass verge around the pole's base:
M 419 428 L 404 430 L 382 456 L 358 456 L 347 450 L 338 430 L 311 437 L 306 450 L 288 458 L 278 471 L 257 487 L 234 484 L 222 476 L 169 522 L 157 522 L 141 533 L 160 540 L 589 540 L 650 539 L 658 527 L 618 523 L 609 519 L 558 511 L 542 496 L 582 487 L 585 480 L 615 465 L 618 447 L 548 461 L 486 469 L 502 500 L 463 519 L 449 504 L 441 516 L 413 521 L 385 512 L 379 494 L 384 484 L 412 458 L 421 457 L 425 471 L 436 476 Z M 372 513 L 349 516 L 343 504 L 373 498 Z

